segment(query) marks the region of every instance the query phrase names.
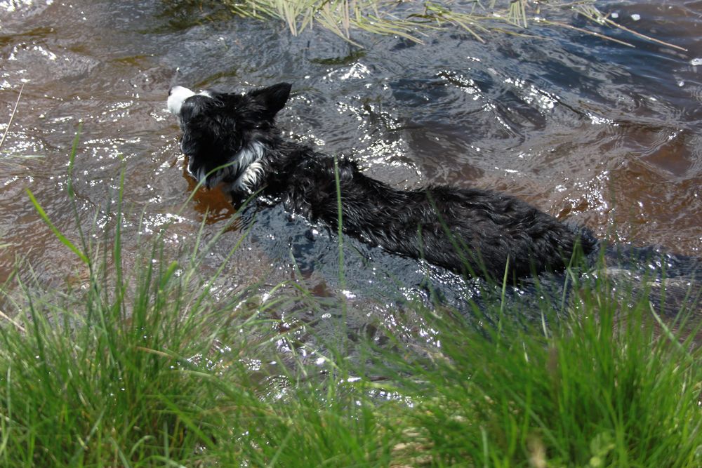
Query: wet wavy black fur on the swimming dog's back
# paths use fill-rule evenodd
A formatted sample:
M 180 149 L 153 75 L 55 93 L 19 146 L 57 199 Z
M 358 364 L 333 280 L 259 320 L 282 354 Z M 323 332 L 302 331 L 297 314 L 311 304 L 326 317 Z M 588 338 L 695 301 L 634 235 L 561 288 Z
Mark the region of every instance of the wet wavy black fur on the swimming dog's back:
M 335 226 L 336 173 L 343 230 L 359 239 L 453 271 L 501 279 L 561 269 L 578 234 L 515 197 L 481 189 L 397 190 L 367 177 L 353 161 L 298 152 L 294 171 L 272 178 L 289 210 Z M 592 239 L 580 241 L 583 253 Z

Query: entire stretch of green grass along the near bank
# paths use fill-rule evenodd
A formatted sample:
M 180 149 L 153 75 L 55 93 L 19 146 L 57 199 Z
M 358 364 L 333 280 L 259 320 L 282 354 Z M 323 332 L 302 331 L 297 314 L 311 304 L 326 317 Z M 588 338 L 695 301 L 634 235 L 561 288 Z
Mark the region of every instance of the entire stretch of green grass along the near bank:
M 596 280 L 571 277 L 562 308 L 543 303 L 541 323 L 514 320 L 519 304 L 499 293 L 478 325 L 407 305 L 430 342 L 401 326 L 382 347 L 351 344 L 339 323 L 344 339 L 317 344 L 319 365 L 270 319 L 315 307 L 302 284 L 213 294 L 226 262 L 203 276 L 218 239 L 202 235 L 176 258 L 145 239 L 126 271 L 120 200 L 111 232 L 61 238 L 84 268 L 74 288 L 20 265 L 1 290 L 0 466 L 702 464 L 700 349 L 645 293 L 620 283 L 615 295 L 602 266 Z

